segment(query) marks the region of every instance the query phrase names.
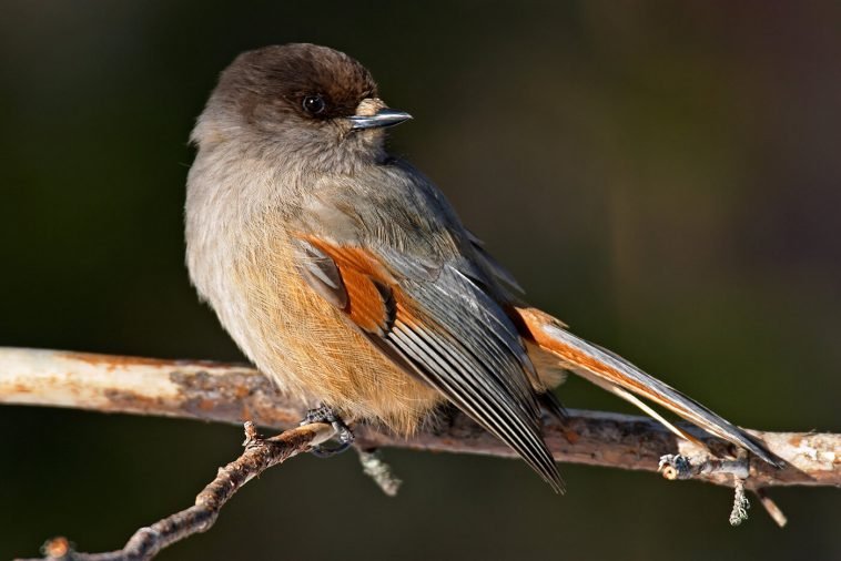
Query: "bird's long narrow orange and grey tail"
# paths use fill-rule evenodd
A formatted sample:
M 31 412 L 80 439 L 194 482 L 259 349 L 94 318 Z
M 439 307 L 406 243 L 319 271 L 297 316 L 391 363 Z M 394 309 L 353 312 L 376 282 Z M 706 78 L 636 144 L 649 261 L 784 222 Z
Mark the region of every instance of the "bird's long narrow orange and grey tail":
M 515 308 L 515 312 L 525 330 L 524 335 L 540 348 L 560 358 L 574 373 L 639 407 L 678 436 L 697 442 L 690 434 L 662 418 L 639 397 L 666 407 L 706 431 L 751 451 L 773 466 L 781 466 L 780 460 L 759 439 L 624 358 L 576 337 L 558 319 L 536 308 Z

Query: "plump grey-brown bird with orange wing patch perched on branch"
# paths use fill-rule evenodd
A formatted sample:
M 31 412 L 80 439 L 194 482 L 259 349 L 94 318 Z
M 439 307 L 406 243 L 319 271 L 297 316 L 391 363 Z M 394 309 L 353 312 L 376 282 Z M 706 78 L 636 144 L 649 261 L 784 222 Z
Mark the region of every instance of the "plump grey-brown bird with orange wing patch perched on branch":
M 772 465 L 757 437 L 527 304 L 442 191 L 388 153 L 391 109 L 371 72 L 311 43 L 240 54 L 196 120 L 186 265 L 200 298 L 256 367 L 353 438 L 411 436 L 455 407 L 549 486 L 541 436 L 565 370 L 647 401 Z M 644 401 L 647 400 L 647 401 Z

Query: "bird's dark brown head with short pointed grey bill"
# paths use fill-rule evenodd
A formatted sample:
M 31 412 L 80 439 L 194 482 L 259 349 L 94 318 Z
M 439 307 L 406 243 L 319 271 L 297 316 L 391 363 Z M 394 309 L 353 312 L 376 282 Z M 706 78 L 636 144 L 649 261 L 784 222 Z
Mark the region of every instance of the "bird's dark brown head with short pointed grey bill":
M 246 141 L 313 162 L 379 157 L 383 129 L 412 119 L 378 96 L 351 57 L 308 43 L 245 52 L 222 73 L 193 141 Z

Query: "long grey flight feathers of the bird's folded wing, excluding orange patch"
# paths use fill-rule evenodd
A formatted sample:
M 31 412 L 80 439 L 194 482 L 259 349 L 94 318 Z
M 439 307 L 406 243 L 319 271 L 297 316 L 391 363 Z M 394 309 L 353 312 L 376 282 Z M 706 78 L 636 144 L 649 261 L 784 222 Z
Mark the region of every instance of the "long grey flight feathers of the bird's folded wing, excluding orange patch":
M 434 282 L 404 279 L 401 288 L 420 305 L 425 322 L 418 326 L 398 317 L 385 335 L 388 344 L 555 490 L 563 490 L 540 435 L 540 407 L 527 375 L 534 367 L 501 308 L 449 265 Z

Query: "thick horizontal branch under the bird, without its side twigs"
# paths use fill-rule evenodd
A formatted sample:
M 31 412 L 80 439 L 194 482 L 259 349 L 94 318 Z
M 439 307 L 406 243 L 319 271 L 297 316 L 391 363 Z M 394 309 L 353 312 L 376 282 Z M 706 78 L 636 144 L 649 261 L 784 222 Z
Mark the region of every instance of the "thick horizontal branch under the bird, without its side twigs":
M 236 424 L 252 420 L 274 429 L 297 425 L 305 410 L 247 366 L 14 348 L 0 348 L 0 402 Z M 715 455 L 733 456 L 728 443 L 700 430 L 688 430 Z M 463 415 L 453 415 L 409 440 L 374 427 L 355 427 L 354 431 L 362 448 L 515 457 L 508 447 Z M 547 419 L 544 432 L 561 462 L 657 471 L 665 455 L 709 457 L 706 450 L 677 439 L 657 421 L 644 417 L 570 410 L 564 426 Z M 747 489 L 841 486 L 841 435 L 751 434 L 789 466 L 776 469 L 751 460 Z M 733 486 L 731 475 L 717 470 L 699 471 L 692 479 Z

